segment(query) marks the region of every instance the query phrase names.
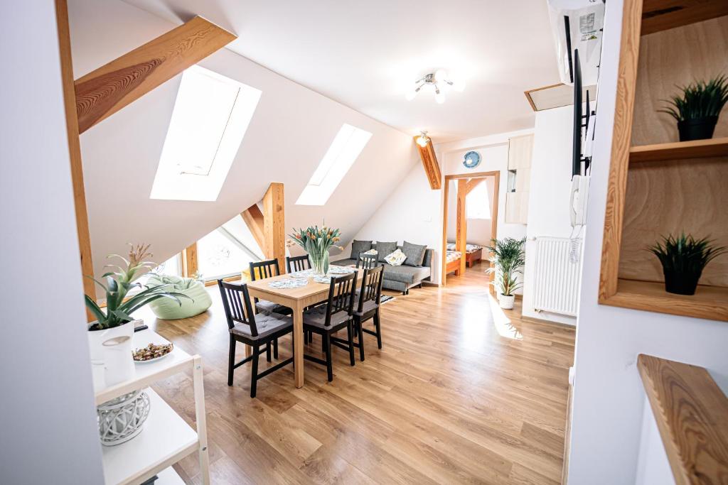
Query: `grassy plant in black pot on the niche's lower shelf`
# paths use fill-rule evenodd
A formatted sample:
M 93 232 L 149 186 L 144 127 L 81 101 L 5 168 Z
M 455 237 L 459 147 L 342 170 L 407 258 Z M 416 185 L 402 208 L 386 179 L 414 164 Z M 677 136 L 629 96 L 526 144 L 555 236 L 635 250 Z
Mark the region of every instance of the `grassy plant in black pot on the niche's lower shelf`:
M 662 241 L 648 250 L 662 263 L 665 291 L 675 294 L 695 294 L 705 265 L 727 252 L 725 246 L 716 247 L 711 239 L 696 240 L 684 232 L 677 238 L 662 236 Z

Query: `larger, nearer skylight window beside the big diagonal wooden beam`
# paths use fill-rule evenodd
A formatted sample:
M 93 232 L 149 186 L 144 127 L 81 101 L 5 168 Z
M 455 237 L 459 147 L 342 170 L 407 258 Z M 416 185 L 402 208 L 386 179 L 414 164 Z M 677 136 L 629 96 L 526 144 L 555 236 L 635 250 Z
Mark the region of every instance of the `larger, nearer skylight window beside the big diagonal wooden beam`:
M 217 200 L 260 97 L 213 71 L 186 69 L 149 198 Z

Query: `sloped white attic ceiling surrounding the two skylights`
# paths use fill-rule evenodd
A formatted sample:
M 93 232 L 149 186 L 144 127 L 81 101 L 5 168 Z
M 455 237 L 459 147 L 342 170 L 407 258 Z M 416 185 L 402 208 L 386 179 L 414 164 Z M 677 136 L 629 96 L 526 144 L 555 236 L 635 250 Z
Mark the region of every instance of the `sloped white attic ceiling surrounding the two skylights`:
M 118 0 L 70 0 L 74 77 L 154 39 L 175 25 Z M 152 244 L 161 262 L 255 204 L 271 182 L 285 184 L 287 231 L 322 223 L 348 241 L 418 160 L 412 138 L 221 49 L 204 68 L 262 92 L 218 199 L 150 199 L 181 76 L 81 136 L 95 274 L 127 243 Z M 342 124 L 371 132 L 357 161 L 320 207 L 295 201 Z

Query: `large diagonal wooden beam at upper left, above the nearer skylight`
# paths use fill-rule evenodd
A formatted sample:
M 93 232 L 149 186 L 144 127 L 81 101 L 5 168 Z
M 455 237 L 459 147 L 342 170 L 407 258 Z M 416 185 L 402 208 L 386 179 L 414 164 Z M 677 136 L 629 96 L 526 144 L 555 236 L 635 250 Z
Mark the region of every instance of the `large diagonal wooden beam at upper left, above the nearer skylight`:
M 237 37 L 202 17 L 76 79 L 79 133 L 172 79 Z

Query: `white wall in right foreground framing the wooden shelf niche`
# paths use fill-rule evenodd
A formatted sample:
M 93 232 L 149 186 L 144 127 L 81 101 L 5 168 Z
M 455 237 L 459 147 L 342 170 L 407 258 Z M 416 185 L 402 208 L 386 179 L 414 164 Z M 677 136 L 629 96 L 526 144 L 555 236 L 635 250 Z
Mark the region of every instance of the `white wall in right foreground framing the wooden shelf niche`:
M 602 228 L 614 124 L 622 1 L 606 4 L 582 291 L 577 324 L 569 484 L 633 484 L 644 391 L 636 369 L 646 353 L 728 375 L 728 325 L 597 302 Z

